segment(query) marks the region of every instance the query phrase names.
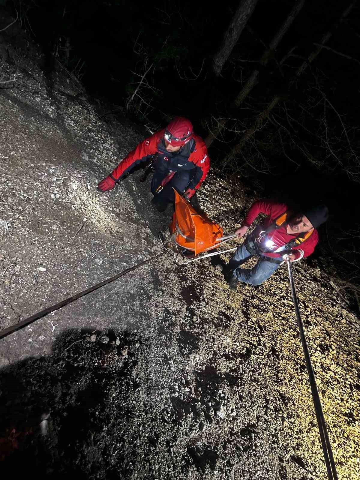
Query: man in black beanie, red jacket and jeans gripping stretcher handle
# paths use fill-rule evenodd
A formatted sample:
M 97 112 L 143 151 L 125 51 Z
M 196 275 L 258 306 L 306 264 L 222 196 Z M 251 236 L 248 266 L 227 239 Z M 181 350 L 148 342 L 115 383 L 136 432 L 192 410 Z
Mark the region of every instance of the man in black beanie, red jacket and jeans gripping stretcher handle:
M 286 257 L 290 262 L 296 262 L 311 255 L 319 240 L 316 227 L 328 218 L 325 205 L 292 212 L 286 204 L 258 200 L 252 204 L 235 233 L 242 237 L 260 213 L 268 217 L 246 238 L 224 268 L 223 273 L 232 290 L 236 290 L 238 281 L 260 285 Z M 259 256 L 257 264 L 253 268 L 241 268 L 240 265 L 253 255 Z

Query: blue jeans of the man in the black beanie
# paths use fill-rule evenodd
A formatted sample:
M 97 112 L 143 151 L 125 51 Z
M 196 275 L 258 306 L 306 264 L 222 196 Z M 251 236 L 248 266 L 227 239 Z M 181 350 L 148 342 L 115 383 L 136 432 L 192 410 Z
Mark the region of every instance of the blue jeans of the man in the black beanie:
M 251 256 L 252 254 L 249 253 L 246 250 L 245 245 L 242 244 L 235 251 L 232 259 L 237 262 L 244 263 Z M 275 270 L 279 268 L 279 266 L 280 264 L 274 264 L 272 262 L 268 262 L 267 260 L 262 260 L 260 257 L 257 261 L 257 264 L 253 268 L 237 267 L 232 274 L 236 276 L 240 282 L 249 283 L 250 285 L 260 285 L 267 280 L 269 276 L 271 276 Z

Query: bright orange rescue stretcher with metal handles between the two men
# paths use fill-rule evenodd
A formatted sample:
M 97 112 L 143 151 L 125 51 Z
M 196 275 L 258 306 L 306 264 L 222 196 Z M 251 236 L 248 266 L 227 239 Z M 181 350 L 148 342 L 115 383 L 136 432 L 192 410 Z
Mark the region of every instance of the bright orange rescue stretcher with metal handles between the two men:
M 215 222 L 212 222 L 204 215 L 200 215 L 176 190 L 175 193 L 175 212 L 170 224 L 170 239 L 165 242 L 163 235 L 159 233 L 159 239 L 165 248 L 174 253 L 178 264 L 188 264 L 196 260 L 220 255 L 221 253 L 231 252 L 237 247 L 220 252 L 207 253 L 199 256 L 199 253 L 209 252 L 217 249 L 220 245 L 236 237 L 236 235 L 224 236 L 223 229 Z M 174 249 L 174 246 L 177 248 Z M 179 259 L 177 253 L 186 254 L 193 252 L 192 258 L 185 260 Z

